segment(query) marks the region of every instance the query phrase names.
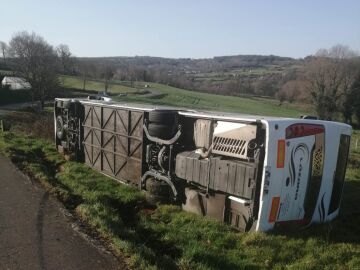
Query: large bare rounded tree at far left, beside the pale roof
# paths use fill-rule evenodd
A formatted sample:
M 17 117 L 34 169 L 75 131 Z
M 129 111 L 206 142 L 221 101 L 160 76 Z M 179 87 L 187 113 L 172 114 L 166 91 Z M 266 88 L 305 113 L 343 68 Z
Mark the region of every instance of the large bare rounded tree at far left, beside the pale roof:
M 33 100 L 44 107 L 46 97 L 58 86 L 58 58 L 55 50 L 41 36 L 20 32 L 9 43 L 16 70 L 32 87 Z

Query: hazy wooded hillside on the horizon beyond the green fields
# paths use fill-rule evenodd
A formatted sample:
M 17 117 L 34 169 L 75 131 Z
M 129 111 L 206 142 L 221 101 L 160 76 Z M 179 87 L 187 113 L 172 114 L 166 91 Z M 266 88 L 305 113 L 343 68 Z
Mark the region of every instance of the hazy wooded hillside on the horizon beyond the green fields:
M 91 70 L 94 74 L 92 77 L 97 78 L 110 68 L 116 80 L 158 82 L 216 94 L 263 96 L 274 96 L 284 80 L 294 77 L 293 74 L 304 63 L 303 59 L 276 55 L 233 55 L 203 59 L 82 57 L 78 61 L 80 66 Z M 91 72 L 79 71 L 83 74 Z

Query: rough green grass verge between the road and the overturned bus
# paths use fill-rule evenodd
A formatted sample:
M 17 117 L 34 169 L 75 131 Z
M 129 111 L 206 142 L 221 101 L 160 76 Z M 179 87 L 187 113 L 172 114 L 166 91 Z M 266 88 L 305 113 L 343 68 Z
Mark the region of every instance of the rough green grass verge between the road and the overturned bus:
M 151 209 L 143 193 L 84 164 L 65 162 L 52 141 L 26 135 L 16 125 L 0 134 L 0 150 L 116 252 L 125 253 L 132 268 L 356 269 L 360 265 L 360 163 L 353 147 L 349 165 L 353 172 L 347 174 L 340 217 L 330 225 L 274 233 L 234 232 L 178 206 Z

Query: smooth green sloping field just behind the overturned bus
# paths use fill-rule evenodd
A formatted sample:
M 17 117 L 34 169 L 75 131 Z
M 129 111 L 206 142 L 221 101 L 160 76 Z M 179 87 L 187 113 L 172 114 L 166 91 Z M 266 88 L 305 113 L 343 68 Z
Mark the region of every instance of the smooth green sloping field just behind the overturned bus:
M 77 77 L 63 77 L 64 87 L 82 89 L 82 80 Z M 149 84 L 151 89 L 155 89 L 162 95 L 157 97 L 142 97 L 133 95 L 139 89 L 143 89 L 145 84 Z M 99 81 L 88 81 L 86 89 L 103 91 L 104 84 Z M 279 106 L 279 102 L 274 99 L 264 99 L 257 97 L 234 97 L 207 94 L 195 91 L 183 90 L 168 85 L 158 83 L 133 83 L 130 87 L 129 82 L 115 81 L 110 87 L 110 93 L 130 93 L 127 96 L 114 96 L 113 99 L 126 102 L 141 102 L 155 105 L 169 105 L 203 110 L 218 110 L 248 113 L 256 115 L 271 115 L 283 117 L 299 117 L 305 112 L 289 105 Z

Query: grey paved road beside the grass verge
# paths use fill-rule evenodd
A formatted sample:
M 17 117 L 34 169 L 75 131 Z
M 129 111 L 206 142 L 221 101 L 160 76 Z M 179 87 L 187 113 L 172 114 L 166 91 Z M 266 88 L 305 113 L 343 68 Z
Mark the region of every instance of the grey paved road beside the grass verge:
M 0 155 L 0 269 L 122 269 L 61 205 Z

